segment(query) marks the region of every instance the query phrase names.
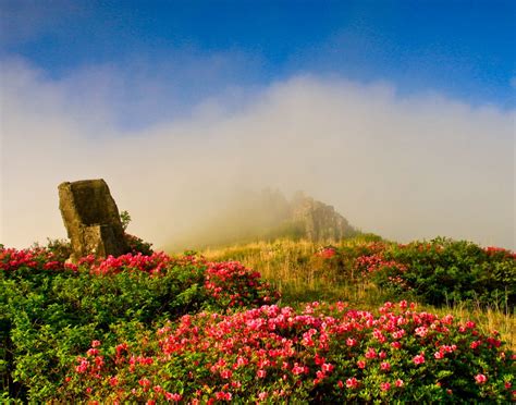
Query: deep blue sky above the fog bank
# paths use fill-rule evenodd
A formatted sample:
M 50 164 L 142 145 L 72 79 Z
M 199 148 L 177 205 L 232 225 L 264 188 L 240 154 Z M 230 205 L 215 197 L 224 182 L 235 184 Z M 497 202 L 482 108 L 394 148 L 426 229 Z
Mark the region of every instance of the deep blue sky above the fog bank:
M 511 0 L 4 0 L 0 10 L 3 59 L 52 79 L 91 66 L 146 71 L 161 88 L 157 105 L 179 97 L 177 110 L 306 73 L 516 106 Z

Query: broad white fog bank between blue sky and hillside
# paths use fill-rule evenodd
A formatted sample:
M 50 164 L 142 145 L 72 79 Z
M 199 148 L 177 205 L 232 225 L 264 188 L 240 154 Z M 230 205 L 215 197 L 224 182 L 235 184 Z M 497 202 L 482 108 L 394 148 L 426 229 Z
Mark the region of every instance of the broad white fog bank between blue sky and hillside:
M 225 93 L 189 119 L 128 133 L 111 121 L 111 95 L 69 102 L 84 76 L 51 82 L 20 63 L 2 75 L 5 245 L 64 236 L 58 184 L 103 177 L 131 230 L 157 245 L 217 216 L 238 187 L 272 186 L 304 189 L 400 241 L 515 246 L 514 111 L 299 76 L 238 109 Z

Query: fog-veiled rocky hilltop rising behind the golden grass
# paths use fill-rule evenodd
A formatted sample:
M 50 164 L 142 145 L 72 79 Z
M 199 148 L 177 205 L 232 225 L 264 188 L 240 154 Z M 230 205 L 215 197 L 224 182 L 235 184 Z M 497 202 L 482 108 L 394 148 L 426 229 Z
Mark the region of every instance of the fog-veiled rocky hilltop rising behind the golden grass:
M 287 200 L 281 192 L 267 188 L 261 193 L 242 193 L 216 219 L 194 226 L 169 247 L 181 250 L 280 237 L 339 241 L 359 233 L 332 206 L 303 192 Z

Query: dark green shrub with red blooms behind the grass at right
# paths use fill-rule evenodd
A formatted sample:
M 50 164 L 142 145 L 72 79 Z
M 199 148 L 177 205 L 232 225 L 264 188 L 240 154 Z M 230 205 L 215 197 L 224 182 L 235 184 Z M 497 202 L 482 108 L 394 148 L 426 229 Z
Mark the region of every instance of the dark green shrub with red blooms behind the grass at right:
M 393 296 L 417 297 L 432 305 L 515 304 L 516 255 L 506 249 L 435 238 L 407 245 L 377 242 L 341 250 L 352 258 L 355 274 Z

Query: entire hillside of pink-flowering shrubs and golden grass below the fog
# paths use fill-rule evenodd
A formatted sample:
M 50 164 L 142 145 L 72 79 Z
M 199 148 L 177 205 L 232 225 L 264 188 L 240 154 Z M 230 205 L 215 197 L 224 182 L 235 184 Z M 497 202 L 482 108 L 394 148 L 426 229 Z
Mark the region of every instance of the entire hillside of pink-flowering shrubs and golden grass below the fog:
M 512 251 L 369 235 L 169 256 L 130 242 L 77 263 L 62 243 L 0 245 L 2 402 L 516 398 Z

